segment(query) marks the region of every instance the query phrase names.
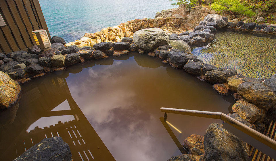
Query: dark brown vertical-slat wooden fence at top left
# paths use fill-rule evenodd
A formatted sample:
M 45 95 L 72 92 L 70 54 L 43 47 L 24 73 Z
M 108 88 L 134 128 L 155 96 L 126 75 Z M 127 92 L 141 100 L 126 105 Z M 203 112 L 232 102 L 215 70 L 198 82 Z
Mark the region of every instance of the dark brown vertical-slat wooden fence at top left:
M 0 0 L 6 25 L 0 28 L 0 52 L 9 53 L 34 45 L 32 31 L 45 29 L 50 36 L 38 0 Z

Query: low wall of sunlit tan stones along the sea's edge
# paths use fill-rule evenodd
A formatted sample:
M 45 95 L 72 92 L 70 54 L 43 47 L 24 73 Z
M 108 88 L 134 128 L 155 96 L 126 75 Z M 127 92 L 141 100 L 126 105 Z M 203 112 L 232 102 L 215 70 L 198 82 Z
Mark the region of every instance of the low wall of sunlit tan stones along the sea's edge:
M 182 28 L 179 28 L 183 20 L 183 18 L 175 18 L 174 16 L 166 18 L 157 17 L 155 19 L 135 19 L 114 27 L 104 28 L 95 33 L 85 33 L 80 40 L 66 43 L 65 46 L 77 45 L 78 47 L 93 47 L 94 44 L 100 42 L 118 42 L 121 41 L 123 37 L 132 37 L 135 31 L 154 27 L 161 28 L 166 31 L 166 33 L 180 33 L 183 31 Z

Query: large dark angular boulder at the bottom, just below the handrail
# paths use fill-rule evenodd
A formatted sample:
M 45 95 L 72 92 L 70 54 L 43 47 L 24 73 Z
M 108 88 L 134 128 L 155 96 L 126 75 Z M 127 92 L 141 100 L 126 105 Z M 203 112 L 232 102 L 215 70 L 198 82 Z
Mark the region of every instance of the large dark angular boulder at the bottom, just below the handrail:
M 248 161 L 249 148 L 246 143 L 222 128 L 222 124 L 211 124 L 204 135 L 204 159 L 223 161 Z

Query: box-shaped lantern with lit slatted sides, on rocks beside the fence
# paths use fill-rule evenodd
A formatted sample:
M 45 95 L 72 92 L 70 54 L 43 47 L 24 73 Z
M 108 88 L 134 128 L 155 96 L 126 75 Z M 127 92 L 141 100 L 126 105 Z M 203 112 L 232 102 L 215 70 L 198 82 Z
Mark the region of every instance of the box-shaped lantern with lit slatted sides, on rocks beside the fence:
M 41 50 L 46 51 L 51 49 L 51 42 L 46 30 L 32 31 L 32 36 L 34 37 L 37 47 L 39 47 Z

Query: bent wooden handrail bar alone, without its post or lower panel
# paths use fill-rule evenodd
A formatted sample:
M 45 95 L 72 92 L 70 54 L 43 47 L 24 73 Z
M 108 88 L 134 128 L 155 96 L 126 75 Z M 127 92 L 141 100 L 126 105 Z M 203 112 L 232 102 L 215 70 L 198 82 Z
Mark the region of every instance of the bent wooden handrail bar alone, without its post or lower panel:
M 189 116 L 198 116 L 204 118 L 214 118 L 223 120 L 225 123 L 233 126 L 237 130 L 251 136 L 255 140 L 263 143 L 264 145 L 276 150 L 276 141 L 261 134 L 260 132 L 242 124 L 241 122 L 231 118 L 230 116 L 222 113 L 222 112 L 209 112 L 209 111 L 198 111 L 198 110 L 185 110 L 185 109 L 177 109 L 177 108 L 160 108 L 161 112 L 173 113 L 173 114 L 181 114 L 181 115 L 189 115 Z M 243 140 L 243 139 L 242 139 Z M 256 147 L 255 147 L 256 148 Z M 266 153 L 266 152 L 263 152 Z

